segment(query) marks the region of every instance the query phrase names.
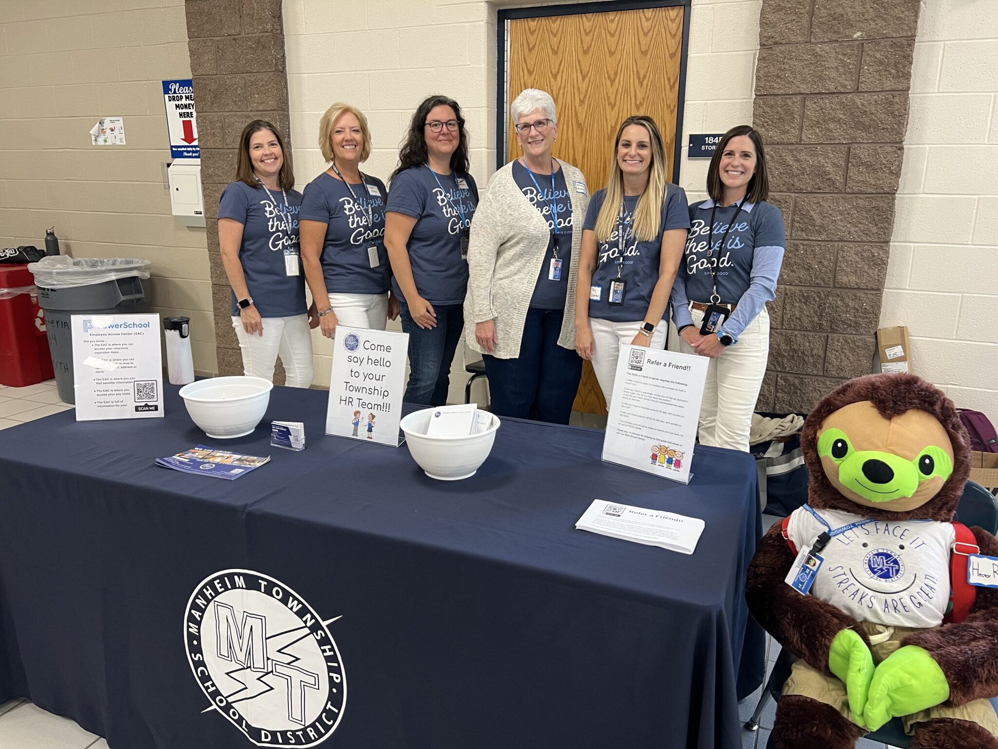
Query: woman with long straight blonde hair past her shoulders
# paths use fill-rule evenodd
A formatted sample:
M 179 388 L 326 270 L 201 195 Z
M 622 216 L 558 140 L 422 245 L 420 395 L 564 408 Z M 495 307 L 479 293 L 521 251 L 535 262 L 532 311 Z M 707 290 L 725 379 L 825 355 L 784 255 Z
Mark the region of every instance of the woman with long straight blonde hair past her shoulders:
M 593 195 L 582 233 L 576 351 L 593 363 L 609 407 L 621 344 L 663 349 L 669 295 L 690 230 L 686 192 L 669 182 L 651 117 L 617 131 L 607 187 Z

